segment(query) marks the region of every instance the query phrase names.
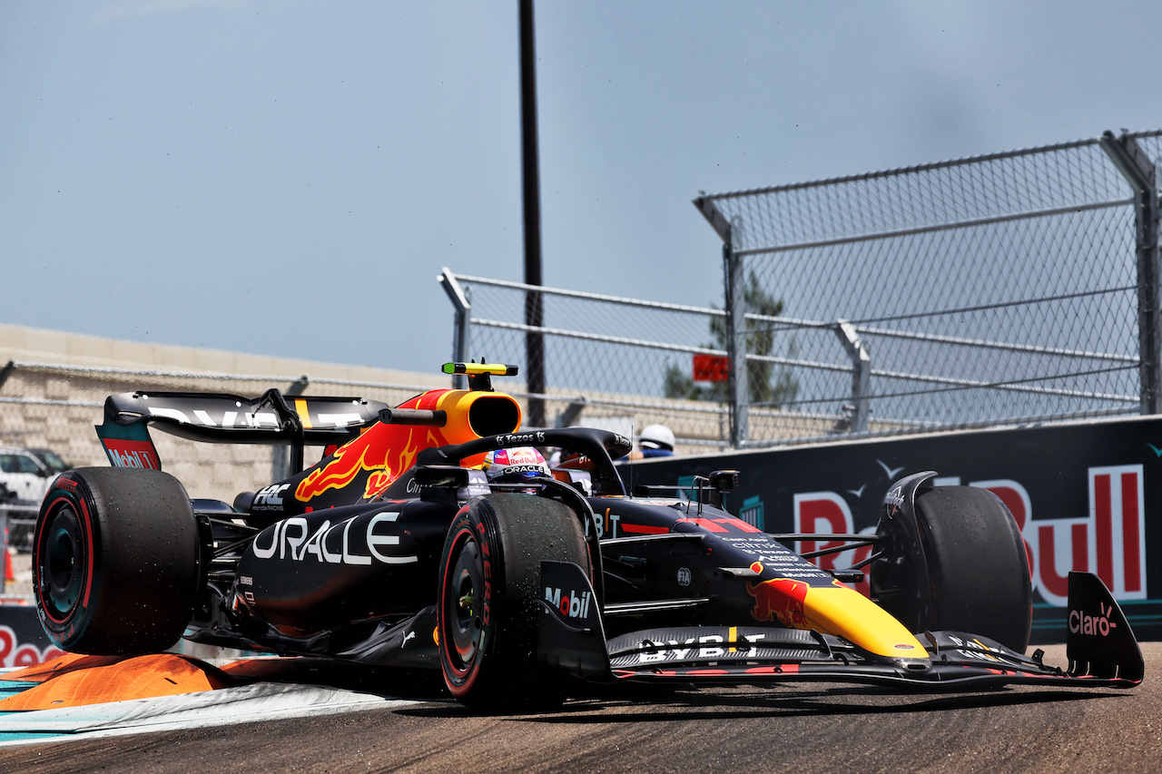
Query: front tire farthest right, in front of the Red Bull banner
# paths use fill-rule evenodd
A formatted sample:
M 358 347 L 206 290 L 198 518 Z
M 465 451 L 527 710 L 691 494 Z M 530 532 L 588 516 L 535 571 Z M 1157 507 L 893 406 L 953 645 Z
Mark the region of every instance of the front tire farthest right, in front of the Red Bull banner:
M 881 605 L 916 632 L 983 635 L 1020 653 L 1028 647 L 1032 595 L 1028 559 L 1017 522 L 1000 499 L 978 487 L 934 487 L 916 497 L 920 558 L 899 556 L 871 568 Z M 884 549 L 905 540 L 883 535 Z M 898 549 L 897 549 L 898 550 Z

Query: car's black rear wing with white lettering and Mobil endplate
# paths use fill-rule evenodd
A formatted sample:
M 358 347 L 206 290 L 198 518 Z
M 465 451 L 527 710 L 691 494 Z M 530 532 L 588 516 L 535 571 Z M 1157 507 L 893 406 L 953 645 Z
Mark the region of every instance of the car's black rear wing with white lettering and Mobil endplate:
M 222 393 L 136 392 L 105 400 L 96 435 L 117 467 L 160 470 L 149 437 L 152 425 L 191 440 L 227 444 L 288 444 L 301 467 L 302 447 L 344 444 L 385 416 L 387 403 L 361 397 L 286 396 L 268 389 L 259 397 Z M 292 460 L 292 466 L 294 466 Z

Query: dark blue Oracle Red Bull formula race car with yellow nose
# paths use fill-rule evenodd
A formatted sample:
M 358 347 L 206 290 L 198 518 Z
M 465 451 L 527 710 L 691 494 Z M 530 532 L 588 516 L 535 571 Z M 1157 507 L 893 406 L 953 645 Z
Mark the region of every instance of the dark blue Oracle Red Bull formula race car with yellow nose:
M 874 536 L 768 535 L 722 508 L 733 471 L 631 494 L 614 464 L 626 438 L 522 431 L 517 401 L 492 387 L 514 367 L 445 372 L 467 374 L 469 388 L 395 408 L 278 390 L 109 396 L 98 433 L 114 467 L 62 474 L 36 525 L 49 637 L 92 654 L 185 637 L 442 669 L 452 695 L 487 711 L 550 708 L 581 681 L 975 690 L 1142 680 L 1125 617 L 1086 573 L 1070 574 L 1068 668 L 1024 654 L 1025 547 L 984 489 L 933 487 L 934 473 L 918 473 L 887 493 Z M 289 445 L 299 472 L 232 503 L 191 500 L 160 471 L 150 425 Z M 303 470 L 313 444 L 328 449 Z M 490 480 L 488 460 L 516 447 L 557 447 L 567 461 Z M 805 539 L 831 547 L 788 547 Z M 868 543 L 863 567 L 810 561 Z M 847 585 L 865 572 L 871 599 Z

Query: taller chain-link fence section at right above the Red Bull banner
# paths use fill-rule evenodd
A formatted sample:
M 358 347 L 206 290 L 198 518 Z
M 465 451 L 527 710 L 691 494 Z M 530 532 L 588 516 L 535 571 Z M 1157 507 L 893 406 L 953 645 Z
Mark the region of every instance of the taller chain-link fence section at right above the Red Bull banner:
M 698 199 L 738 284 L 780 309 L 747 315 L 772 339 L 749 367 L 795 379 L 784 410 L 749 401 L 745 437 L 810 437 L 819 414 L 896 432 L 1156 411 L 1139 310 L 1156 308 L 1159 150 L 1107 134 Z

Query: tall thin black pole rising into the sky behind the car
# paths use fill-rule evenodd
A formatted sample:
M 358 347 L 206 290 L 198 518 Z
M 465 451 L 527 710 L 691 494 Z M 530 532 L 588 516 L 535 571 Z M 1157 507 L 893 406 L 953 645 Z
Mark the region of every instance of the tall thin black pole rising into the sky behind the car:
M 521 0 L 521 166 L 524 187 L 524 281 L 541 285 L 540 278 L 540 162 L 537 156 L 537 53 L 533 46 L 532 0 Z M 524 324 L 540 328 L 544 308 L 540 293 L 524 299 Z M 545 392 L 545 339 L 539 331 L 524 335 L 529 392 Z M 529 397 L 529 425 L 545 427 L 545 401 Z

